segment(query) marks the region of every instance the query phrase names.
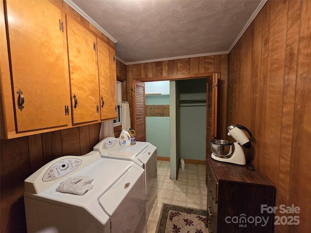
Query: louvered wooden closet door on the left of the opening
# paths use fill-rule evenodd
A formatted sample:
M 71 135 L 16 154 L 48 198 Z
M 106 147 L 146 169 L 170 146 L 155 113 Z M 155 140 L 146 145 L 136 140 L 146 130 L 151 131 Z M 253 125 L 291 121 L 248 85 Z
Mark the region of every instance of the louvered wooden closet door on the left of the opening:
M 132 116 L 136 140 L 146 141 L 145 83 L 133 80 Z

